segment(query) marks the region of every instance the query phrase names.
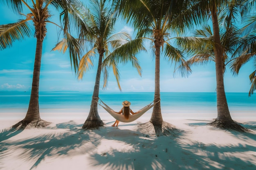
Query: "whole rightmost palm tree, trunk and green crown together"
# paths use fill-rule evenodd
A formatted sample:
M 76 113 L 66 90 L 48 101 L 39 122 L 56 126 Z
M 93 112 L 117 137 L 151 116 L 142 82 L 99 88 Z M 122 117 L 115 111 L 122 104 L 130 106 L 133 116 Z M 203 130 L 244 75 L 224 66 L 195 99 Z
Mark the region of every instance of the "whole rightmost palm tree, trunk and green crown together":
M 240 1 L 239 1 L 240 2 Z M 195 9 L 195 13 L 200 14 L 202 18 L 207 18 L 210 16 L 213 28 L 213 34 L 211 37 L 204 39 L 197 39 L 198 42 L 203 42 L 206 46 L 206 49 L 202 49 L 202 46 L 199 48 L 200 53 L 207 52 L 204 55 L 198 55 L 191 59 L 191 61 L 195 61 L 200 58 L 200 62 L 207 61 L 209 59 L 215 62 L 216 67 L 216 93 L 217 93 L 217 112 L 218 116 L 211 123 L 213 126 L 217 126 L 220 128 L 226 129 L 234 129 L 239 131 L 244 131 L 245 128 L 234 122 L 229 113 L 229 108 L 227 104 L 227 99 L 225 95 L 224 88 L 224 71 L 225 71 L 225 62 L 228 59 L 228 53 L 234 53 L 234 40 L 238 40 L 237 31 L 233 25 L 234 17 L 236 16 L 238 9 L 241 9 L 242 4 L 238 1 L 226 1 L 226 0 L 210 0 L 210 1 L 195 1 L 192 3 L 194 5 L 193 9 Z M 192 5 L 192 6 L 193 6 Z M 197 8 L 196 8 L 197 7 Z M 197 10 L 196 10 L 197 9 Z M 218 16 L 220 16 L 218 18 Z M 221 17 L 222 16 L 222 17 Z M 223 17 L 224 16 L 224 17 Z M 192 16 L 193 18 L 193 16 Z M 198 20 L 199 21 L 199 20 Z M 222 37 L 220 36 L 221 29 L 219 27 L 219 23 L 225 25 L 224 33 Z M 195 20 L 197 22 L 197 20 Z M 209 30 L 209 27 L 207 27 Z M 235 34 L 234 34 L 235 33 Z M 236 36 L 234 36 L 236 35 Z M 203 41 L 202 41 L 203 40 Z M 207 40 L 207 41 L 205 41 Z M 232 45 L 233 44 L 233 45 Z M 191 42 L 189 43 L 191 45 Z M 202 45 L 202 44 L 198 44 Z M 197 46 L 198 45 L 193 45 Z M 230 49 L 230 45 L 233 47 Z M 190 48 L 193 48 L 191 45 Z M 203 46 L 204 47 L 204 46 Z M 192 49 L 191 49 L 192 50 Z M 214 55 L 214 56 L 213 56 Z

